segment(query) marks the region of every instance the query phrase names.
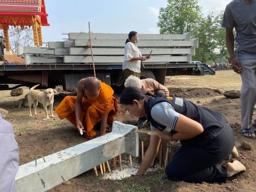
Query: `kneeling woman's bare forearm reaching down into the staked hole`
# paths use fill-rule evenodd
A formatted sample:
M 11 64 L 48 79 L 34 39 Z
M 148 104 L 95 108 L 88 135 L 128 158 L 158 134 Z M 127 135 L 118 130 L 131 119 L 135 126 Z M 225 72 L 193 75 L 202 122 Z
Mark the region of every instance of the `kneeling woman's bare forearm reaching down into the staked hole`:
M 144 155 L 143 161 L 141 162 L 137 175 L 141 175 L 148 170 L 148 167 L 156 158 L 160 143 L 161 139 L 159 137 L 157 137 L 156 135 L 150 136 L 149 147 Z

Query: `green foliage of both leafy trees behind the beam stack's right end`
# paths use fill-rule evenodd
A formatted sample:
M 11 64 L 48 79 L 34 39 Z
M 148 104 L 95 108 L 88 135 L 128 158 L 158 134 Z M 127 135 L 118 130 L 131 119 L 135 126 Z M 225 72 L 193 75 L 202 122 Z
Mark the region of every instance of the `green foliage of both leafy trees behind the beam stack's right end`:
M 221 63 L 228 58 L 222 18 L 223 12 L 203 17 L 197 0 L 167 0 L 167 6 L 159 11 L 158 27 L 161 34 L 190 32 L 191 38 L 199 38 L 193 60 Z

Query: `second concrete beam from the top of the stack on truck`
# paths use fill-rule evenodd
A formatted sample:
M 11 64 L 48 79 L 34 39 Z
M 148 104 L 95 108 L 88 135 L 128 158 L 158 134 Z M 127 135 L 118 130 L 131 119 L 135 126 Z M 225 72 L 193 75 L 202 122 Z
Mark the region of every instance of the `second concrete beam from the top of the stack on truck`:
M 89 39 L 75 39 L 75 46 L 86 46 L 90 44 Z M 92 39 L 93 47 L 124 47 L 124 40 Z M 191 47 L 194 41 L 184 40 L 140 40 L 138 47 Z

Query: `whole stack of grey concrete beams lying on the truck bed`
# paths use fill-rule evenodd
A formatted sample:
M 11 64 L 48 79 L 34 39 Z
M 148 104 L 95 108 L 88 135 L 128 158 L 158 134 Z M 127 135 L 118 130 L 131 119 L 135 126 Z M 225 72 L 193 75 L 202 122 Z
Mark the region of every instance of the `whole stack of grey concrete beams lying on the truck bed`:
M 69 33 L 68 40 L 49 42 L 48 47 L 18 46 L 18 55 L 25 58 L 26 65 L 45 63 L 86 64 L 92 63 L 89 33 Z M 137 44 L 142 55 L 153 50 L 151 58 L 144 63 L 190 63 L 195 54 L 198 39 L 186 34 L 139 34 Z M 95 65 L 121 65 L 127 34 L 91 33 Z

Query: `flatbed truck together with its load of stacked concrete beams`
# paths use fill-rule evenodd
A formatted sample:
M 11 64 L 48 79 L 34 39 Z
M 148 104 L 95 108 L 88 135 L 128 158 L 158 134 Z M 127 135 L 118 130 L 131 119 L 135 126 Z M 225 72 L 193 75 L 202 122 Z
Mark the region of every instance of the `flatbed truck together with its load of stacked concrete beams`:
M 25 63 L 0 65 L 0 90 L 41 84 L 41 88 L 62 85 L 63 90 L 74 91 L 79 79 L 93 76 L 93 64 L 101 81 L 119 89 L 124 84 L 126 38 L 127 34 L 91 33 L 90 39 L 89 33 L 68 33 L 65 41 L 48 42 L 46 47 L 18 45 L 18 55 Z M 204 75 L 205 69 L 211 70 L 204 63 L 191 63 L 198 39 L 191 39 L 190 33 L 140 34 L 137 45 L 142 55 L 153 50 L 151 58 L 143 62 L 141 78 L 164 85 L 166 75 Z

